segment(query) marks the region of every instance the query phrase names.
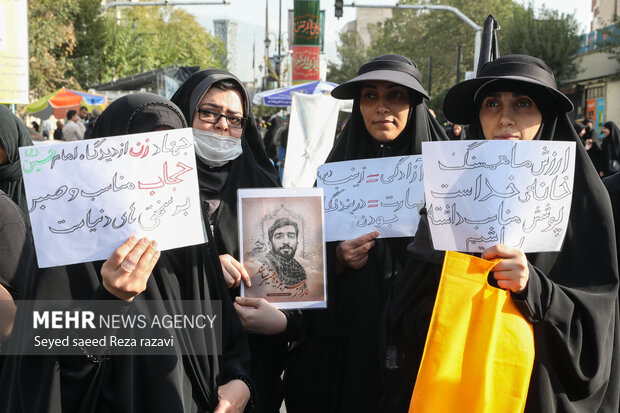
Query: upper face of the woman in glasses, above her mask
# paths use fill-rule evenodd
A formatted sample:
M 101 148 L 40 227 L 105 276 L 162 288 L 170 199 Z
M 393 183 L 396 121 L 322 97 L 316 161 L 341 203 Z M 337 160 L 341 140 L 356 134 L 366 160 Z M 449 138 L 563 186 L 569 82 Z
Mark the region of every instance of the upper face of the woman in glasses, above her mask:
M 242 118 L 243 100 L 241 99 L 241 94 L 236 90 L 209 89 L 196 107 L 192 127 L 222 136 L 241 138 L 243 129 L 231 127 L 232 121 L 230 119 L 222 116 L 216 123 L 205 122 L 198 116 L 199 111 L 202 112 L 201 116 L 203 119 L 207 117 L 216 119 L 219 114 L 232 117 L 234 121 Z

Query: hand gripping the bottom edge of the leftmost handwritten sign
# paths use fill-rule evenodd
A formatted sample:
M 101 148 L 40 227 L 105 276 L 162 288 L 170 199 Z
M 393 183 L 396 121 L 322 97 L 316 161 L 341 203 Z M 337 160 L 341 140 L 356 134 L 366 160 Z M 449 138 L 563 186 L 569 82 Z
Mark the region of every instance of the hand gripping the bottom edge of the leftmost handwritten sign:
M 146 283 L 159 260 L 157 242 L 137 240 L 133 235 L 112 253 L 101 267 L 103 286 L 110 294 L 125 301 L 146 289 Z

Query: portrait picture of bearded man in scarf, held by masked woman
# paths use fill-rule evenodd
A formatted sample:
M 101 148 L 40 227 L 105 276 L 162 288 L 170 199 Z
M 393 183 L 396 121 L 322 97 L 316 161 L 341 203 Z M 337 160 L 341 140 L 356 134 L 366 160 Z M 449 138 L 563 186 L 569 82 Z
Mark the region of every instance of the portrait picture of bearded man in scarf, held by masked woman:
M 325 308 L 322 188 L 239 189 L 239 246 L 251 287 L 280 309 Z

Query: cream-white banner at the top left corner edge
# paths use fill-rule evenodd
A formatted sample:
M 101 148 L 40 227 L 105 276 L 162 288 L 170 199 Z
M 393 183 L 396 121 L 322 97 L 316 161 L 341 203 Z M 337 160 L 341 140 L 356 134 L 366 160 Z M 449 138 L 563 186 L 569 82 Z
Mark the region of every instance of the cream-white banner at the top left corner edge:
M 28 103 L 28 1 L 0 0 L 0 103 Z

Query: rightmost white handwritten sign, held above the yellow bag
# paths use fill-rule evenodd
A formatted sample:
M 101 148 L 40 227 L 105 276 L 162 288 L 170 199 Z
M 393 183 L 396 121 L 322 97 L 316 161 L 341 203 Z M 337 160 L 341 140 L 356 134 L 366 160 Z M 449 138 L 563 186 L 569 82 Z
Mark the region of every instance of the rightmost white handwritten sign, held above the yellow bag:
M 433 245 L 559 251 L 570 215 L 575 142 L 422 143 Z

